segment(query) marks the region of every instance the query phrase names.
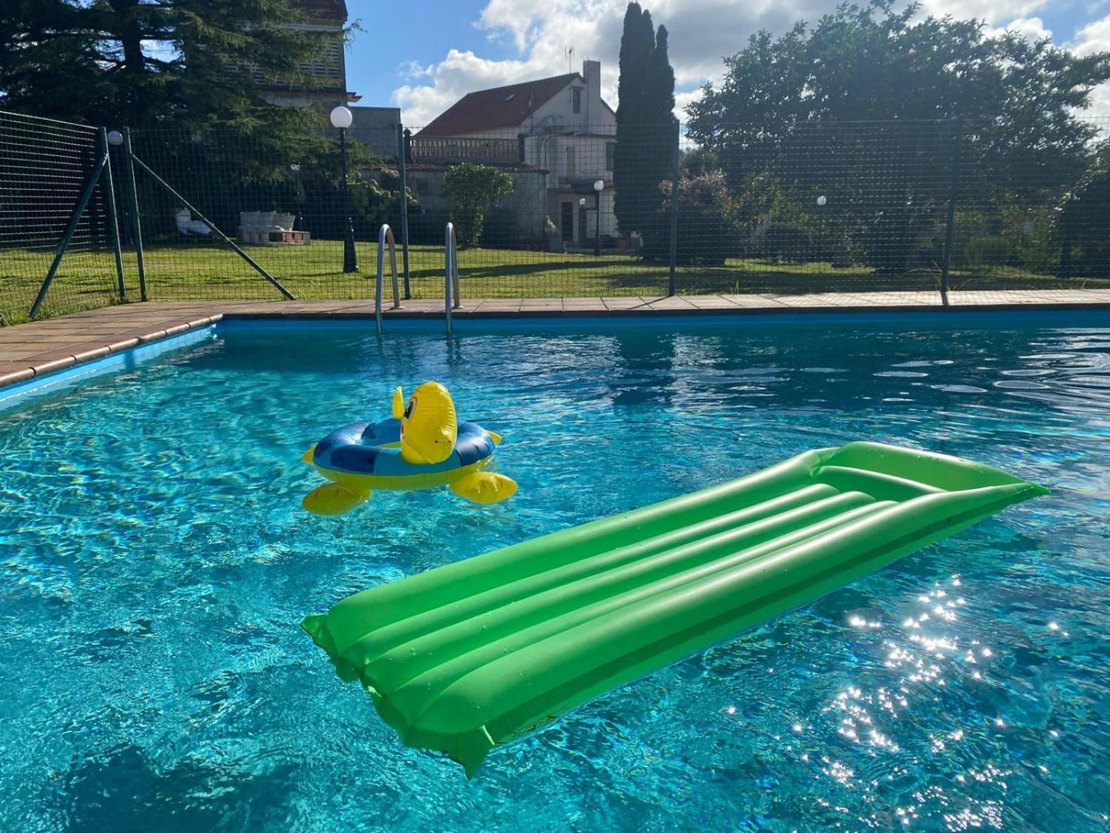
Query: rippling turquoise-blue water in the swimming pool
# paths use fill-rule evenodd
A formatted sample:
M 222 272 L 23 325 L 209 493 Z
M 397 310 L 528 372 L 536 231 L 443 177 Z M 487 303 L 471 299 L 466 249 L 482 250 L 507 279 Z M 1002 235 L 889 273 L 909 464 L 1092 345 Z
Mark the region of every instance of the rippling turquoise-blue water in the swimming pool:
M 521 490 L 300 509 L 452 389 Z M 12 404 L 12 402 L 9 402 Z M 855 439 L 1053 493 L 496 751 L 406 750 L 297 629 L 418 570 Z M 1102 831 L 1110 318 L 230 324 L 0 411 L 0 830 Z

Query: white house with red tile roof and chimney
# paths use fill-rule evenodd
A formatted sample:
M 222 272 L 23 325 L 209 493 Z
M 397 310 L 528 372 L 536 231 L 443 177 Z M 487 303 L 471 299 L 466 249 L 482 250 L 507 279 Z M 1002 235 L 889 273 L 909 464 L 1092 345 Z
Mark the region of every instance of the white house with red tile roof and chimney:
M 413 136 L 411 154 L 542 170 L 543 204 L 531 224 L 551 218 L 565 243 L 586 247 L 598 232 L 618 234 L 615 148 L 616 113 L 602 100 L 602 64 L 584 61 L 582 72 L 467 93 Z

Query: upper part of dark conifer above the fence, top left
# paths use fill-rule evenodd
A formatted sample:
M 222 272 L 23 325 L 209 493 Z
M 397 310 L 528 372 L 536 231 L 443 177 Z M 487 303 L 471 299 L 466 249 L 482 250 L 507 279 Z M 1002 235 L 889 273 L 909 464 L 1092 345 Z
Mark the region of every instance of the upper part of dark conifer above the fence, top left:
M 6 0 L 0 107 L 92 124 L 270 130 L 309 116 L 258 78 L 311 87 L 297 64 L 332 36 L 289 0 Z

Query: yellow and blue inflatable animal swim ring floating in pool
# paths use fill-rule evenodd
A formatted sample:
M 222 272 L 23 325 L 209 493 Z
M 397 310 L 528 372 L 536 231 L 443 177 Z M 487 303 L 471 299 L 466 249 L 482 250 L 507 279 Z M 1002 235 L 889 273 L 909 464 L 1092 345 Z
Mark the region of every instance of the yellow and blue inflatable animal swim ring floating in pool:
M 474 503 L 498 503 L 516 493 L 516 482 L 483 471 L 501 435 L 460 422 L 455 403 L 438 382 L 420 385 L 405 403 L 393 393 L 393 415 L 352 422 L 327 434 L 304 456 L 329 482 L 301 505 L 317 515 L 341 515 L 370 500 L 375 489 L 408 491 L 450 486 Z

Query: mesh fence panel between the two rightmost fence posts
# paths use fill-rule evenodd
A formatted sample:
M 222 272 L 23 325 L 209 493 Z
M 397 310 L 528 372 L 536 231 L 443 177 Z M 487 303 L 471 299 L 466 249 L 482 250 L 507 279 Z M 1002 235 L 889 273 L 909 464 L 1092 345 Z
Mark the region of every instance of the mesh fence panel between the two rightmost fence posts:
M 684 140 L 678 290 L 939 291 L 955 136 L 830 122 Z

